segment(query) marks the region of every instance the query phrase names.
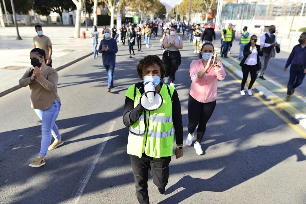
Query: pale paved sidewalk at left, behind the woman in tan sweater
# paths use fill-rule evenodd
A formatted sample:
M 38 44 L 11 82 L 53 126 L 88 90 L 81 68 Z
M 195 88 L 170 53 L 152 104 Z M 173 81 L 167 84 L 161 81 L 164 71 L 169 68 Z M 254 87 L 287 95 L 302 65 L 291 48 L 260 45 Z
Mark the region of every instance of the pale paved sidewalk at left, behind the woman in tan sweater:
M 84 27 L 81 27 L 80 32 L 82 30 Z M 91 27 L 88 30 L 86 39 L 74 39 L 72 26 L 43 27 L 44 35 L 48 36 L 52 43 L 54 69 L 63 69 L 92 54 L 89 38 Z M 33 49 L 33 37 L 37 33 L 34 26 L 19 27 L 19 33 L 22 40 L 16 40 L 15 27 L 0 28 L 0 97 L 18 89 L 18 80 L 25 70 L 31 67 L 30 51 Z

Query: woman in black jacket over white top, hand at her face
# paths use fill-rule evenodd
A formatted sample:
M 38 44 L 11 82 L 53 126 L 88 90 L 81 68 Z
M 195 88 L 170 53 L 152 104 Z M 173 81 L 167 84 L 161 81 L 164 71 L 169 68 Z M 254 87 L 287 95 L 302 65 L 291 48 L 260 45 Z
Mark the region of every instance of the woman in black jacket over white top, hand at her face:
M 240 63 L 243 74 L 240 94 L 243 96 L 245 95 L 244 85 L 248 79 L 248 73 L 250 72 L 251 74 L 251 81 L 248 86 L 248 95 L 252 96 L 253 94 L 251 88 L 256 80 L 257 72 L 261 68 L 259 56 L 263 56 L 263 45 L 262 46 L 256 45 L 256 42 L 257 42 L 257 36 L 252 35 L 251 41 L 244 46 L 243 50 L 244 58 Z

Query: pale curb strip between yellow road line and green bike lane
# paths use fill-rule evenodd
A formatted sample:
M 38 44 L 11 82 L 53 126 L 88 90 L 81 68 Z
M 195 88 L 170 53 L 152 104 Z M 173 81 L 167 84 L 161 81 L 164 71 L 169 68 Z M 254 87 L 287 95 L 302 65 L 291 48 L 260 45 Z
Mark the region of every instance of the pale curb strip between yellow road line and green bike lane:
M 239 79 L 242 79 L 242 72 L 238 70 L 235 66 L 230 64 L 225 59 L 220 59 L 223 66 L 229 69 L 233 74 L 235 74 Z M 249 77 L 248 77 L 249 78 Z M 270 79 L 271 80 L 271 79 Z M 306 129 L 306 114 L 300 112 L 295 107 L 291 106 L 288 102 L 286 102 L 281 97 L 277 96 L 264 86 L 259 83 L 254 83 L 254 89 L 256 89 L 260 95 L 263 95 L 269 101 L 271 101 L 274 105 L 276 105 L 279 109 L 281 109 L 284 113 L 289 115 L 289 117 L 293 118 L 293 120 L 297 121 L 303 128 Z M 280 88 L 281 89 L 281 88 Z M 301 102 L 303 102 L 301 100 Z

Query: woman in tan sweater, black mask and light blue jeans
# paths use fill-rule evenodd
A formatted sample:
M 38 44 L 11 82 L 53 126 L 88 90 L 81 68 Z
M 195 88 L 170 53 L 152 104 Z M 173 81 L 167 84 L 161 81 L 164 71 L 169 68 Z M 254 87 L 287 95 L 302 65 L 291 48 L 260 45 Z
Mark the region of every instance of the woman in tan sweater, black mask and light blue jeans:
M 28 69 L 19 80 L 21 87 L 30 86 L 31 107 L 42 120 L 42 139 L 38 158 L 29 166 L 40 167 L 46 164 L 45 155 L 47 150 L 53 150 L 62 145 L 61 134 L 55 120 L 61 108 L 61 101 L 57 94 L 58 73 L 45 63 L 45 51 L 35 48 L 30 52 L 31 64 L 33 67 Z M 52 136 L 54 142 L 50 145 Z M 50 145 L 50 146 L 49 146 Z

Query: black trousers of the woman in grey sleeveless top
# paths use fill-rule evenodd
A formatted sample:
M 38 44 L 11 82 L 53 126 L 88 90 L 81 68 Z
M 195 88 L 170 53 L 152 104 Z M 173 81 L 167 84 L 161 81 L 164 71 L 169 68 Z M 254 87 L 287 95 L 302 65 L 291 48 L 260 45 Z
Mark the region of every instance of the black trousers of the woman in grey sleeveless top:
M 169 76 L 170 82 L 174 82 L 175 80 L 175 72 L 180 64 L 181 61 L 181 54 L 180 51 L 166 51 L 162 55 L 162 61 L 166 67 L 165 76 Z

